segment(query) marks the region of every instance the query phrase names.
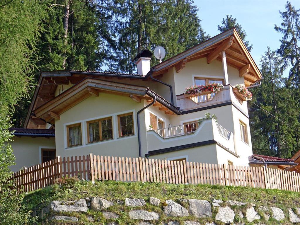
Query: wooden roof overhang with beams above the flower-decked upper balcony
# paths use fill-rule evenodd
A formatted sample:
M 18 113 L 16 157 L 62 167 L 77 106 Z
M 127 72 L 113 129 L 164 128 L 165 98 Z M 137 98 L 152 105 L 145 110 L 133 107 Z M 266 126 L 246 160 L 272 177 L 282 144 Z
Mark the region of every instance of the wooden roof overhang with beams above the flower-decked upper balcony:
M 204 57 L 207 58 L 207 63 L 214 59 L 221 61 L 220 53 L 223 50 L 226 52 L 227 64 L 239 70 L 240 76 L 244 77 L 246 86 L 253 85 L 262 79 L 262 73 L 235 28 L 157 64 L 152 68 L 152 74 L 159 75 L 171 67 L 175 67 L 176 72 L 179 72 L 185 63 Z

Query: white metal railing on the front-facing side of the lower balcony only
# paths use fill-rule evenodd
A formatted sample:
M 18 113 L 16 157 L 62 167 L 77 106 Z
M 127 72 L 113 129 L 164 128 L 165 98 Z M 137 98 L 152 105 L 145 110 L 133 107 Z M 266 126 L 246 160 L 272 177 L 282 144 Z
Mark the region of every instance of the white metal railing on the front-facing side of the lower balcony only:
M 191 122 L 173 127 L 154 130 L 163 138 L 177 137 L 185 134 L 193 134 L 198 128 L 198 122 Z

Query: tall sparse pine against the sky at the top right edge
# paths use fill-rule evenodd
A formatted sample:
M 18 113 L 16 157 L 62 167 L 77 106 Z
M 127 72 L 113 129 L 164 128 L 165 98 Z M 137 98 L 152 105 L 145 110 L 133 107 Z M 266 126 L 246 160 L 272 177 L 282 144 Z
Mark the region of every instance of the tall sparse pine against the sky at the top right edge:
M 300 52 L 299 52 L 299 42 L 300 42 L 300 10 L 296 10 L 294 6 L 291 5 L 289 1 L 286 2 L 286 11 L 280 12 L 280 17 L 283 22 L 281 26 L 275 25 L 275 30 L 283 34 L 280 40 L 281 45 L 277 52 L 283 58 L 283 68 L 289 67 L 289 82 L 295 86 L 300 86 Z

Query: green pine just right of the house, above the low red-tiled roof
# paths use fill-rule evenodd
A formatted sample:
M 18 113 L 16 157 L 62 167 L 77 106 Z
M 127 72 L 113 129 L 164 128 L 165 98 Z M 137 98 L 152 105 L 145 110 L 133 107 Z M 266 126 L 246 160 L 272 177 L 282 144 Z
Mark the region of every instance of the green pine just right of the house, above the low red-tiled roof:
M 261 59 L 262 84 L 251 89 L 250 129 L 253 153 L 290 158 L 299 147 L 298 90 L 285 87 L 281 64 L 268 47 Z

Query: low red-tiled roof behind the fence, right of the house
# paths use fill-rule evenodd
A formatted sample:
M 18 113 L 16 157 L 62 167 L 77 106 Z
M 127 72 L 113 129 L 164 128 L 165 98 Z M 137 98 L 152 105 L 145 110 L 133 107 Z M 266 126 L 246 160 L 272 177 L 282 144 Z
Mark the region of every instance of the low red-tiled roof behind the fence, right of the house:
M 267 155 L 251 155 L 249 157 L 249 163 L 250 164 L 267 164 L 267 165 L 289 165 L 294 166 L 297 165 L 297 163 L 294 162 L 292 159 L 285 159 L 285 158 L 279 158 L 279 157 L 273 157 L 273 156 L 267 156 Z

